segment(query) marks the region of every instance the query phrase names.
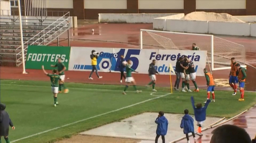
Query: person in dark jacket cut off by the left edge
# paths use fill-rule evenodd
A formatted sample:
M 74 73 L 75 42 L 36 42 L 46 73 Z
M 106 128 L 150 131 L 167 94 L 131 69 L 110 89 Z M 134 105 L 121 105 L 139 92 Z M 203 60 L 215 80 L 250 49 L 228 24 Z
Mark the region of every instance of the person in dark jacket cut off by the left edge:
M 11 126 L 13 130 L 15 129 L 13 122 L 11 122 L 8 113 L 5 111 L 5 105 L 0 104 L 0 143 L 2 136 L 4 136 L 5 142 L 10 143 L 10 140 L 8 139 L 9 126 Z

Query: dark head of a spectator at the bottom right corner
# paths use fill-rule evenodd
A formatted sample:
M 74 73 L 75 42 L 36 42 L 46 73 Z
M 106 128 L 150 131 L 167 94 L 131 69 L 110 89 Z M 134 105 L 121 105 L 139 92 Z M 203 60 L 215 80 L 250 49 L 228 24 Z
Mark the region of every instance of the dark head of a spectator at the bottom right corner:
M 245 129 L 225 124 L 213 130 L 210 143 L 251 143 L 251 138 Z

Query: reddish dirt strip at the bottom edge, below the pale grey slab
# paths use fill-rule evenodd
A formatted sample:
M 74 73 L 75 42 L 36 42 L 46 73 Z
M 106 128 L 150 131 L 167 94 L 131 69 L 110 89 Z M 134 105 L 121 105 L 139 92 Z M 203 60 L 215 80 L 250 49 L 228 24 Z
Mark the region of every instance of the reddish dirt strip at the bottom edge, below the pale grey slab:
M 105 136 L 90 136 L 90 135 L 75 135 L 72 138 L 64 139 L 62 141 L 58 141 L 58 143 L 138 143 L 140 140 L 137 139 L 126 139 L 126 138 L 112 138 Z

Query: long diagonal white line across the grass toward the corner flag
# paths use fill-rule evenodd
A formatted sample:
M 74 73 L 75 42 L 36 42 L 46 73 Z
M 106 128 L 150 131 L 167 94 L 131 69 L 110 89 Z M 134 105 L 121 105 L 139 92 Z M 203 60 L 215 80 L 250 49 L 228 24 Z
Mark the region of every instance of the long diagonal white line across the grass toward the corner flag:
M 148 99 L 148 100 L 146 100 L 146 101 L 138 102 L 137 104 L 129 105 L 129 106 L 127 106 L 127 107 L 123 107 L 123 108 L 115 109 L 115 110 L 113 110 L 113 111 L 105 112 L 105 113 L 103 113 L 103 114 L 95 115 L 95 116 L 93 116 L 93 117 L 84 118 L 83 120 L 79 120 L 79 121 L 75 121 L 75 122 L 73 122 L 73 123 L 65 124 L 65 125 L 63 125 L 63 126 L 55 127 L 55 128 L 49 129 L 49 130 L 45 130 L 45 131 L 43 131 L 43 132 L 35 133 L 35 134 L 33 134 L 33 135 L 30 135 L 30 136 L 25 136 L 25 137 L 23 137 L 23 138 L 16 139 L 16 140 L 14 140 L 14 141 L 12 141 L 12 142 L 17 142 L 17 141 L 20 141 L 20 140 L 22 140 L 22 139 L 31 138 L 31 137 L 33 137 L 33 136 L 37 136 L 37 135 L 41 135 L 41 134 L 43 134 L 43 133 L 51 132 L 52 130 L 57 130 L 57 129 L 60 129 L 60 128 L 62 128 L 62 127 L 70 126 L 70 125 L 72 125 L 72 124 L 80 123 L 80 122 L 82 122 L 82 121 L 90 120 L 90 119 L 92 119 L 92 118 L 100 117 L 100 116 L 102 116 L 102 115 L 107 115 L 107 114 L 110 114 L 110 113 L 112 113 L 112 112 L 120 111 L 120 110 L 122 110 L 122 109 L 134 107 L 134 106 L 139 105 L 139 104 L 144 104 L 145 102 L 152 101 L 152 100 L 155 100 L 155 99 L 158 99 L 158 98 L 163 98 L 164 96 L 167 96 L 167 95 L 170 95 L 170 93 L 167 93 L 167 94 L 162 95 L 162 96 L 158 96 L 158 97 L 156 97 L 156 98 L 151 98 L 151 99 Z

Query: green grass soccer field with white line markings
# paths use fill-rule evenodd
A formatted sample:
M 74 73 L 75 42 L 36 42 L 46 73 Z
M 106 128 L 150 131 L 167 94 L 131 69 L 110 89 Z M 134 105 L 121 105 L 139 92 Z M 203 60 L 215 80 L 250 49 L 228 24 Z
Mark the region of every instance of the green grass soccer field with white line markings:
M 66 83 L 69 93 L 58 94 L 58 107 L 53 107 L 51 83 L 45 81 L 1 80 L 1 102 L 16 126 L 10 130 L 11 142 L 54 142 L 75 133 L 118 121 L 142 112 L 192 113 L 190 96 L 204 102 L 205 90 L 199 93 L 174 92 L 160 88 L 152 94 L 151 88 L 138 87 L 142 93 L 124 86 Z M 245 101 L 239 102 L 239 93 L 216 91 L 216 102 L 210 103 L 207 115 L 233 117 L 256 103 L 256 95 L 245 92 Z

